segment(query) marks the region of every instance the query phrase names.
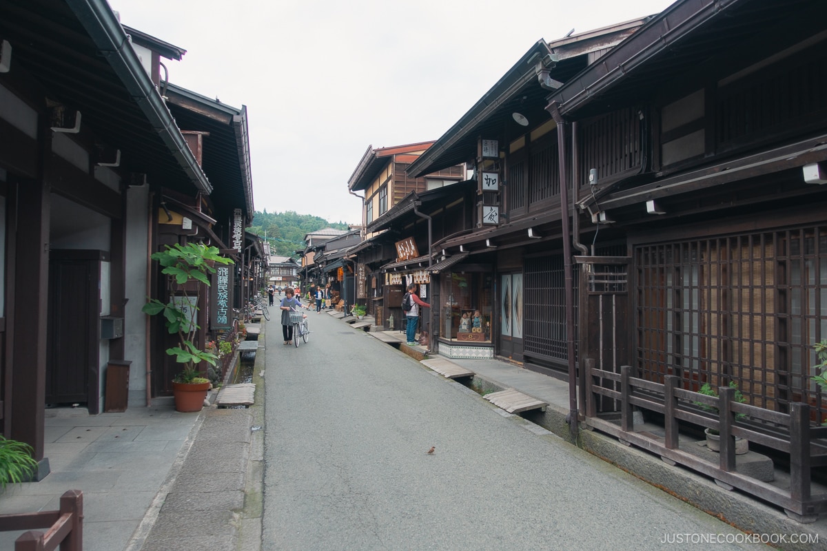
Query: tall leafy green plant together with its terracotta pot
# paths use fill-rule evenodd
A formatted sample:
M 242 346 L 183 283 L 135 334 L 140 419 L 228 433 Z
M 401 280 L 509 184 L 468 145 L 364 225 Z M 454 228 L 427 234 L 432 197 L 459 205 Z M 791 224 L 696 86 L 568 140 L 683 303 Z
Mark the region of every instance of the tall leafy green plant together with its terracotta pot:
M 166 349 L 183 366 L 172 382 L 175 410 L 199 411 L 210 382 L 196 366 L 201 362 L 214 366 L 218 359 L 214 349 L 202 350 L 194 343 L 198 334 L 200 283 L 209 286 L 207 275 L 215 273 L 214 264 L 232 264 L 232 260 L 222 257 L 218 248 L 203 243 L 167 245 L 165 250 L 152 254 L 151 259 L 164 268 L 161 273 L 170 276 L 170 288 L 177 288 L 181 294 L 171 297 L 166 304 L 151 298 L 142 311 L 150 316 L 162 314 L 170 335 L 178 335 L 178 345 Z

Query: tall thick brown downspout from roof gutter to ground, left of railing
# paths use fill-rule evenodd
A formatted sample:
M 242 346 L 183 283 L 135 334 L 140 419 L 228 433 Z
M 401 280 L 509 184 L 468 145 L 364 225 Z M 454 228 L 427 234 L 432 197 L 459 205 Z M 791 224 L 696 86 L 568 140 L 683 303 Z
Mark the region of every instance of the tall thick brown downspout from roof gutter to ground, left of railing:
M 560 115 L 559 104 L 552 102 L 546 107 L 557 122 L 557 157 L 560 160 L 560 211 L 563 236 L 563 273 L 566 295 L 566 356 L 568 356 L 569 412 L 566 422 L 572 437 L 577 435 L 577 369 L 574 357 L 574 285 L 571 268 L 571 230 L 569 229 L 569 200 L 566 180 L 566 121 Z M 564 210 L 565 209 L 565 210 Z

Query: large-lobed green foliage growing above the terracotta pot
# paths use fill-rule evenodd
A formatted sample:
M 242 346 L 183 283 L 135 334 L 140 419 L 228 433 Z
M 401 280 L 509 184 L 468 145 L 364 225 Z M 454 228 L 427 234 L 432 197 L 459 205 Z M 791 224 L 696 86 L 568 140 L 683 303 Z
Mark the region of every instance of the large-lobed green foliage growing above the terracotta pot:
M 163 315 L 166 329 L 170 335 L 178 335 L 178 346 L 166 349 L 166 353 L 175 356 L 175 361 L 184 364 L 183 370 L 175 376 L 174 382 L 206 382 L 201 379 L 201 373 L 196 367 L 198 363 L 207 362 L 216 364 L 218 356 L 212 352 L 198 349 L 194 344 L 198 332 L 198 291 L 188 292 L 186 283 L 198 282 L 209 286 L 209 273 L 215 273 L 213 264 L 232 264 L 232 259 L 223 257 L 218 248 L 203 243 L 188 243 L 166 246 L 166 249 L 152 254 L 151 259 L 157 260 L 164 268 L 165 273 L 182 289 L 183 300 L 170 299 L 170 302 L 160 302 L 150 298 L 142 311 L 150 316 Z M 201 288 L 200 285 L 196 287 Z M 194 299 L 194 300 L 192 300 Z M 192 306 L 192 311 L 189 311 Z

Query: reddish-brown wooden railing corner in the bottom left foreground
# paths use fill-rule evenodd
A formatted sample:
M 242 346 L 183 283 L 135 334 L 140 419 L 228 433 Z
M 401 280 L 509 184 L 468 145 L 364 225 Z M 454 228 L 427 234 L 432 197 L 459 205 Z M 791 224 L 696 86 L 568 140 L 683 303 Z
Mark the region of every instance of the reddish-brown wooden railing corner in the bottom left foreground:
M 45 532 L 37 529 L 48 528 Z M 84 492 L 60 496 L 60 511 L 0 515 L 0 531 L 29 530 L 14 542 L 14 551 L 83 551 Z

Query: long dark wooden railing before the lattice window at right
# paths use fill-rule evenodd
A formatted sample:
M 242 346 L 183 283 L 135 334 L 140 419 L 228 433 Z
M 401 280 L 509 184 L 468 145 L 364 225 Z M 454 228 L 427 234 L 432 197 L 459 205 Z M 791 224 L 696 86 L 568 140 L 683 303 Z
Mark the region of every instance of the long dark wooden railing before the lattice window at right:
M 647 449 L 669 463 L 679 463 L 715 479 L 723 487 L 734 487 L 782 507 L 787 515 L 800 522 L 813 522 L 827 512 L 827 493 L 812 495 L 812 468 L 827 465 L 827 427 L 810 425 L 810 406 L 792 403 L 790 413 L 769 411 L 735 401 L 734 388 L 721 387 L 718 397 L 706 396 L 681 388 L 681 378 L 667 375 L 664 383 L 634 377 L 633 368 L 623 366 L 620 373 L 592 368 L 586 360 L 586 416 L 597 418 L 600 397 L 620 402 L 620 425 L 601 423 L 624 442 Z M 595 379 L 615 384 L 600 386 Z M 718 415 L 705 413 L 696 403 L 718 409 Z M 633 430 L 634 407 L 657 411 L 664 417 L 665 436 L 638 434 Z M 739 414 L 748 421 L 736 420 Z M 678 421 L 719 430 L 719 463 L 715 465 L 694 454 L 681 451 L 678 445 Z M 616 425 L 614 425 L 616 426 Z M 748 439 L 786 454 L 790 461 L 790 488 L 772 486 L 767 482 L 739 474 L 735 463 L 735 437 Z M 819 441 L 821 440 L 821 441 Z

